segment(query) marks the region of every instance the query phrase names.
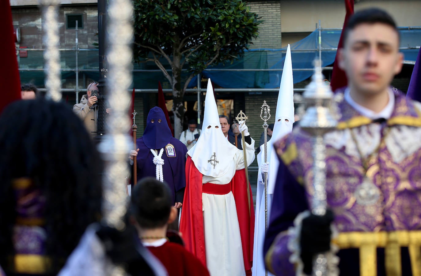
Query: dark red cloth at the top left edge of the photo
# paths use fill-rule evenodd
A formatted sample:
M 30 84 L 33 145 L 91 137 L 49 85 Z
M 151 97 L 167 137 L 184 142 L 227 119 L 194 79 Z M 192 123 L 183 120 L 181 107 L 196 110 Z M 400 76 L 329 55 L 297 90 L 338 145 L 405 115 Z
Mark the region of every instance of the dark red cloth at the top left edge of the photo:
M 2 84 L 2 100 L 0 113 L 12 101 L 21 99 L 21 80 L 19 77 L 18 60 L 16 58 L 15 37 L 13 35 L 12 10 L 9 0 L 0 1 L 0 83 Z

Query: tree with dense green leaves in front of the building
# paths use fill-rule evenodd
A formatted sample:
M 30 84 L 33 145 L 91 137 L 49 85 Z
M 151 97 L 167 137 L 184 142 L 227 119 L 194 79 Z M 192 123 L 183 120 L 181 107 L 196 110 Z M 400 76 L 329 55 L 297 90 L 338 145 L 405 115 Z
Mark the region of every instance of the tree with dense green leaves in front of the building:
M 211 64 L 241 57 L 262 21 L 242 0 L 134 0 L 133 6 L 135 61 L 155 62 L 171 83 L 178 137 L 189 82 Z

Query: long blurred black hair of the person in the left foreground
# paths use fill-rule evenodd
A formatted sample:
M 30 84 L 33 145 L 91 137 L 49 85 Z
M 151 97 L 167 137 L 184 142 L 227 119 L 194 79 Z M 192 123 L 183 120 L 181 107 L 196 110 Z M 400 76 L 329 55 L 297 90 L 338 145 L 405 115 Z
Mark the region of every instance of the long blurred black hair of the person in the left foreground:
M 13 179 L 32 179 L 45 197 L 45 254 L 56 274 L 85 228 L 101 219 L 101 160 L 82 121 L 64 103 L 16 101 L 0 116 L 0 265 L 13 267 Z M 13 259 L 12 259 L 13 260 Z

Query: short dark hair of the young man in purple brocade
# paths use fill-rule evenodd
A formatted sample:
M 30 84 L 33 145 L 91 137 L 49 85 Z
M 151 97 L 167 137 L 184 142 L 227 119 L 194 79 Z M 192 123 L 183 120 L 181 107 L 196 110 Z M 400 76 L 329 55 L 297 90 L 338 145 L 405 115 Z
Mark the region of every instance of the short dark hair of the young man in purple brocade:
M 357 11 L 354 13 L 348 21 L 344 29 L 344 45 L 346 39 L 348 38 L 349 32 L 355 29 L 360 24 L 375 24 L 375 23 L 382 23 L 392 27 L 398 35 L 400 40 L 399 30 L 396 27 L 396 22 L 392 18 L 392 16 L 384 10 L 379 8 L 368 8 L 361 11 Z

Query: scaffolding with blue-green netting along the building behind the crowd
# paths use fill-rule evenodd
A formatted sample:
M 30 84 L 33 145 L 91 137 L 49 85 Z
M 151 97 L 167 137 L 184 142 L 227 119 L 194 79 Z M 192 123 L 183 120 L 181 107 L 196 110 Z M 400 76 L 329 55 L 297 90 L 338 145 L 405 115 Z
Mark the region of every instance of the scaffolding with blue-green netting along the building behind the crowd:
M 400 27 L 401 42 L 400 50 L 406 51 L 405 56 L 409 56 L 405 60 L 405 64 L 415 64 L 416 56 L 418 54 L 419 45 L 421 45 L 421 27 Z M 76 103 L 79 100 L 79 93 L 85 92 L 85 87 L 90 80 L 97 80 L 99 76 L 99 62 L 98 62 L 98 50 L 97 49 L 82 49 L 78 45 L 77 28 L 75 29 L 76 39 L 74 48 L 61 48 L 61 78 L 63 82 L 62 92 L 73 92 L 75 93 Z M 291 54 L 293 56 L 293 72 L 294 82 L 308 78 L 313 71 L 312 60 L 318 57 L 320 60 L 323 59 L 322 67 L 323 70 L 329 71 L 333 67 L 334 56 L 336 55 L 336 45 L 341 29 L 323 29 L 320 24 L 317 25 L 314 32 L 311 35 L 291 45 Z M 338 35 L 339 34 L 339 35 Z M 335 44 L 336 43 L 336 44 Z M 312 45 L 313 47 L 306 47 L 306 45 Z M 34 82 L 35 85 L 42 88 L 43 73 L 46 70 L 43 64 L 39 64 L 43 60 L 42 52 L 44 49 L 32 49 L 32 48 L 17 48 L 19 71 L 21 72 L 22 82 Z M 28 57 L 21 57 L 21 51 L 28 51 Z M 282 75 L 283 58 L 285 58 L 286 48 L 281 49 L 257 49 L 248 50 L 245 53 L 245 57 L 240 58 L 238 61 L 234 61 L 229 66 L 226 65 L 214 65 L 211 66 L 201 74 L 197 75 L 189 84 L 186 92 L 197 93 L 197 99 L 200 101 L 200 94 L 206 91 L 206 88 L 201 87 L 201 77 L 210 77 L 213 82 L 218 84 L 218 80 L 221 80 L 219 86 L 221 88 L 215 88 L 218 93 L 224 92 L 274 92 L 279 91 L 280 75 Z M 410 53 L 407 55 L 407 53 Z M 31 56 L 31 57 L 29 57 Z M 296 60 L 301 60 L 300 63 L 294 64 L 294 57 Z M 303 63 L 302 60 L 308 61 Z M 155 65 L 155 64 L 154 64 Z M 152 67 L 152 68 L 151 68 Z M 155 68 L 154 68 L 155 67 Z M 40 74 L 42 72 L 42 74 Z M 171 69 L 168 69 L 171 72 Z M 187 72 L 187 69 L 184 69 Z M 301 76 L 302 75 L 302 76 Z M 235 76 L 235 77 L 234 77 Z M 238 76 L 240 76 L 237 83 L 233 83 Z M 241 76 L 243 79 L 241 79 Z M 254 83 L 248 85 L 248 87 L 242 86 L 245 81 L 250 79 L 254 80 Z M 297 79 L 298 76 L 298 79 Z M 301 79 L 299 79 L 301 76 Z M 165 85 L 168 82 L 163 76 L 160 69 L 156 66 L 135 64 L 133 69 L 133 84 L 135 87 L 135 93 L 156 93 L 157 85 L 150 85 L 150 80 L 160 80 L 163 83 L 164 92 L 172 92 L 169 88 L 171 86 Z M 82 87 L 80 87 L 80 78 L 82 78 Z M 225 78 L 226 80 L 223 80 Z M 257 83 L 257 84 L 256 84 Z M 149 87 L 148 87 L 149 86 Z M 302 92 L 303 88 L 296 88 L 294 91 Z M 297 98 L 299 101 L 299 98 Z

